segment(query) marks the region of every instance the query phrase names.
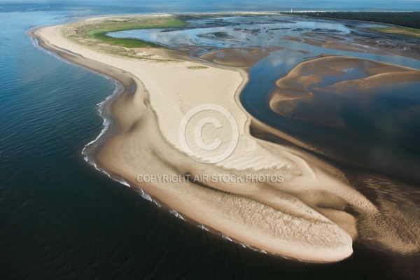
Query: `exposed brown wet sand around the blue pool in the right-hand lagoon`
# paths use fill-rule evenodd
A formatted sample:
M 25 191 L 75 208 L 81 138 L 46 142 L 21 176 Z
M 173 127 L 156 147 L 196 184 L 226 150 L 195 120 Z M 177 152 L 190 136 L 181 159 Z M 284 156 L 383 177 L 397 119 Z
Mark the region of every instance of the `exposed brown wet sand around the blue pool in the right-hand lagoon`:
M 321 84 L 325 78 L 345 76 L 346 71 L 358 69 L 365 73 L 364 78 L 349 78 L 332 85 Z M 349 98 L 358 98 L 353 92 L 368 92 L 385 83 L 419 82 L 420 71 L 407 67 L 374 62 L 355 57 L 337 57 L 325 55 L 318 59 L 302 62 L 295 66 L 285 77 L 277 80 L 277 90 L 272 93 L 270 107 L 282 116 L 292 116 L 293 108 L 300 99 L 309 100 L 315 86 L 317 92 L 345 94 Z M 367 93 L 366 93 L 367 94 Z M 338 119 L 335 120 L 336 122 Z M 337 123 L 342 126 L 341 123 Z

